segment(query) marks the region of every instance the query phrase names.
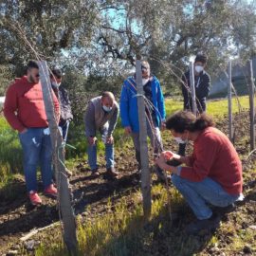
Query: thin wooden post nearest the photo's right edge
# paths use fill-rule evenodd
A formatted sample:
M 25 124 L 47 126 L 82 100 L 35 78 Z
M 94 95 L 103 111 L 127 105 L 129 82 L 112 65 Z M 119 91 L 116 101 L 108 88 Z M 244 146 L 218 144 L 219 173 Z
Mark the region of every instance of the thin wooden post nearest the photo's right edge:
M 250 150 L 255 149 L 255 109 L 254 109 L 254 78 L 252 61 L 248 61 L 248 75 L 249 75 L 249 120 L 250 120 Z

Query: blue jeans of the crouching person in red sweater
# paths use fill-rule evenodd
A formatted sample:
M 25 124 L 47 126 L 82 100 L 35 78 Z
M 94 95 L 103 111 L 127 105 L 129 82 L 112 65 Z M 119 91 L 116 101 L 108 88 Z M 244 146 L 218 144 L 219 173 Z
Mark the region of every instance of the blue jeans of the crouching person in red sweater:
M 184 196 L 199 220 L 210 218 L 212 211 L 207 205 L 227 207 L 234 203 L 238 195 L 225 192 L 221 185 L 209 177 L 200 182 L 193 182 L 176 174 L 172 175 L 174 187 Z

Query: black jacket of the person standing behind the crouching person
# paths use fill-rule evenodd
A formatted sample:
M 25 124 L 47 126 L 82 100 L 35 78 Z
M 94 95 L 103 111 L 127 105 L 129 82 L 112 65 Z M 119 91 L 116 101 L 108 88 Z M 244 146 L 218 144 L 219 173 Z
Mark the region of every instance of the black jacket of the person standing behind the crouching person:
M 187 87 L 191 87 L 190 70 L 182 76 L 182 94 L 184 97 L 184 109 L 192 111 L 192 96 Z M 202 71 L 199 76 L 194 76 L 194 88 L 196 97 L 197 111 L 202 113 L 206 111 L 206 98 L 210 92 L 210 75 Z

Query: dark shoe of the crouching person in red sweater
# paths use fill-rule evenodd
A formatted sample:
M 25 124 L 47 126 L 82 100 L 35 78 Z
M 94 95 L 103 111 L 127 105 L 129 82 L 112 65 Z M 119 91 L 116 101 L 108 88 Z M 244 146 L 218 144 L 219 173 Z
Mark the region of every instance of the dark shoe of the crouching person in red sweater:
M 195 235 L 198 234 L 202 230 L 206 231 L 214 231 L 217 229 L 220 225 L 220 217 L 213 213 L 209 219 L 205 220 L 197 220 L 190 224 L 187 228 L 186 231 L 190 235 Z

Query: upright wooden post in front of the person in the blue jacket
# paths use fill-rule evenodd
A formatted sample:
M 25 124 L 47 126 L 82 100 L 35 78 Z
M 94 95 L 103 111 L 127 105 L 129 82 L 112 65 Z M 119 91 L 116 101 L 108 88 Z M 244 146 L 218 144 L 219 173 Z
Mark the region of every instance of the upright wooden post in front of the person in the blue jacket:
M 145 112 L 145 102 L 143 99 L 144 90 L 142 85 L 141 62 L 136 61 L 136 82 L 137 82 L 137 109 L 139 121 L 139 144 L 140 144 L 140 164 L 141 164 L 141 191 L 143 196 L 144 216 L 151 215 L 151 176 L 149 171 L 149 155 L 147 143 L 147 122 Z

